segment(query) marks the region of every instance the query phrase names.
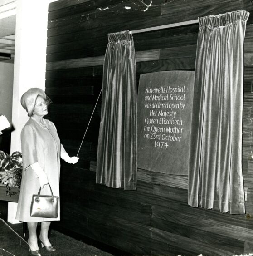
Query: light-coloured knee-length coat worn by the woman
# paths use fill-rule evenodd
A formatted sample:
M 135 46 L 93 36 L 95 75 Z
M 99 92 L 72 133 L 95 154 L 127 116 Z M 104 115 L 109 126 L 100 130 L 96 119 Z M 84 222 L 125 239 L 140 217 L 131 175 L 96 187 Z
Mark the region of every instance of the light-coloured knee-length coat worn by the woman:
M 19 194 L 16 219 L 22 222 L 45 222 L 60 220 L 60 206 L 58 217 L 38 218 L 30 217 L 32 195 L 39 191 L 39 178 L 30 167 L 39 162 L 47 174 L 54 196 L 59 197 L 60 154 L 66 152 L 60 143 L 54 123 L 45 119 L 48 128 L 43 128 L 34 119 L 30 118 L 21 131 L 21 150 L 23 157 L 23 174 Z M 41 189 L 41 195 L 50 195 L 49 186 Z

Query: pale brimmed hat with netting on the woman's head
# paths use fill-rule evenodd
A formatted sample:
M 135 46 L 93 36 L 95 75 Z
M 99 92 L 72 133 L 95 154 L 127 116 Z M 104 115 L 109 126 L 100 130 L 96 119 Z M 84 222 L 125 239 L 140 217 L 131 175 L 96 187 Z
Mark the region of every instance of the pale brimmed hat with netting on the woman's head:
M 42 96 L 47 105 L 52 103 L 50 98 L 47 97 L 47 95 L 45 94 L 45 92 L 42 89 L 30 88 L 21 97 L 21 105 L 26 110 L 26 112 L 28 112 L 29 117 L 31 117 L 33 115 L 36 99 L 38 96 Z

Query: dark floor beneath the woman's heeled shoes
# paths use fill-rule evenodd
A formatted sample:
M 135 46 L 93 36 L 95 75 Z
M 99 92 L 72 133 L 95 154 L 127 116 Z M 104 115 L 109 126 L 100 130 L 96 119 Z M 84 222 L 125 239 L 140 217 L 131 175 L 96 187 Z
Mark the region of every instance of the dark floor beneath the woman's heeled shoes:
M 0 209 L 3 209 L 3 201 L 0 201 Z M 5 217 L 5 216 L 4 216 Z M 22 224 L 10 224 L 6 222 L 10 227 L 6 226 L 6 224 L 0 220 L 0 255 L 10 256 L 11 254 L 16 256 L 24 256 L 28 255 L 29 247 L 28 245 L 19 237 L 23 237 L 23 226 Z M 38 227 L 38 231 L 39 231 Z M 15 232 L 13 232 L 13 229 Z M 74 236 L 73 234 L 71 234 Z M 27 234 L 28 238 L 29 235 Z M 53 254 L 55 256 L 111 256 L 111 255 L 120 255 L 119 251 L 116 249 L 106 246 L 102 243 L 97 243 L 96 241 L 92 241 L 91 239 L 78 236 L 76 234 L 76 239 L 71 238 L 67 235 L 64 235 L 61 232 L 55 231 L 51 229 L 49 231 L 49 239 L 54 247 L 57 249 Z M 84 242 L 85 240 L 85 242 Z M 39 245 L 40 247 L 40 245 Z M 53 255 L 52 252 L 48 252 L 45 248 L 40 247 L 40 251 L 42 255 Z M 9 253 L 8 253 L 9 252 Z M 10 254 L 11 253 L 11 254 Z

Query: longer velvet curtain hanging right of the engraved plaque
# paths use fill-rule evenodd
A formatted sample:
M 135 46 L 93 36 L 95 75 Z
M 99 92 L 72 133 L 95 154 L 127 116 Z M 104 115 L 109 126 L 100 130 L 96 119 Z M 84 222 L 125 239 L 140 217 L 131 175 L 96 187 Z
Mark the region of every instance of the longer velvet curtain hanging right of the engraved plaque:
M 245 213 L 243 41 L 249 13 L 199 18 L 188 204 Z

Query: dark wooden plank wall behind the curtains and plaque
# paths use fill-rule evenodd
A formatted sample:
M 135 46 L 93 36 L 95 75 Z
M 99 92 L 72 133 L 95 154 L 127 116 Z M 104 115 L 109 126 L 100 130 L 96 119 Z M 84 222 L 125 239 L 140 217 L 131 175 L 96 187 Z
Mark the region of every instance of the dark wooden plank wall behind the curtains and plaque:
M 146 5 L 151 6 L 147 8 Z M 60 0 L 49 5 L 46 93 L 49 119 L 69 155 L 76 155 L 102 87 L 107 34 L 247 10 L 243 176 L 246 215 L 187 205 L 187 176 L 138 170 L 137 191 L 95 183 L 101 103 L 76 165 L 61 170 L 58 227 L 134 255 L 234 255 L 253 252 L 253 3 L 250 0 Z M 194 70 L 199 25 L 134 34 L 140 74 Z M 253 141 L 253 138 L 252 138 Z M 253 143 L 253 142 L 252 142 Z

